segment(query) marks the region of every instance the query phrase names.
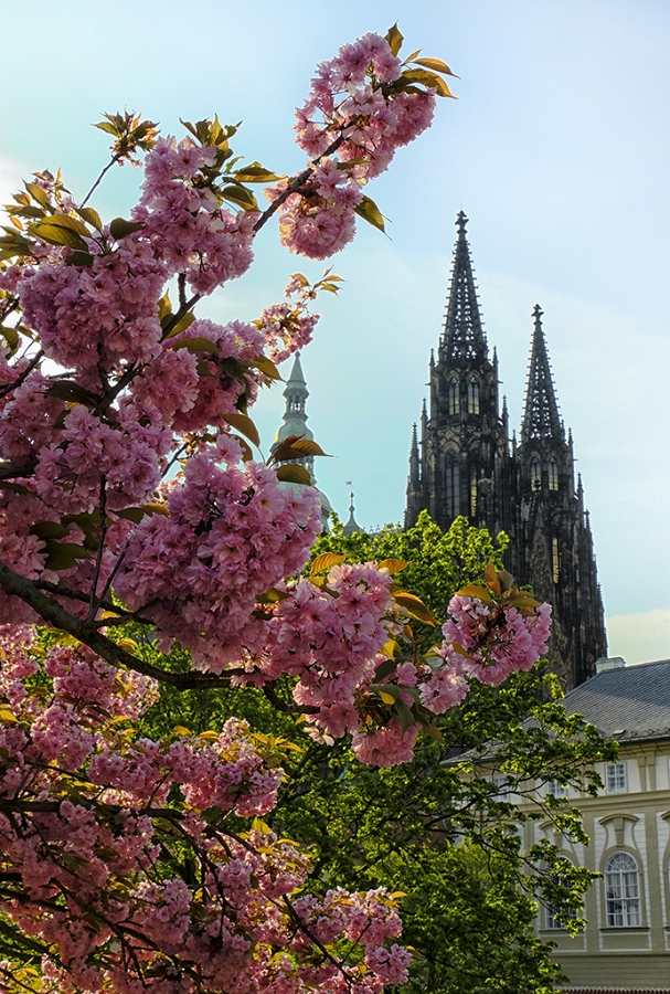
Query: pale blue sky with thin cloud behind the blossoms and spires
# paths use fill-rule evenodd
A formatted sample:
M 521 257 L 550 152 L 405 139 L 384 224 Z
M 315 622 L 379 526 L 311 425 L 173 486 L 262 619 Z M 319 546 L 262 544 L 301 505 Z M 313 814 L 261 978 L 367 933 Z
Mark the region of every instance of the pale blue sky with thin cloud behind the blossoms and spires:
M 255 0 L 253 4 L 4 0 L 2 201 L 34 169 L 83 197 L 106 161 L 89 127 L 127 107 L 181 134 L 179 117 L 243 120 L 235 150 L 290 172 L 293 110 L 315 65 L 397 20 L 406 51 L 461 77 L 432 130 L 369 189 L 392 223 L 336 256 L 345 283 L 304 353 L 310 426 L 333 458 L 319 485 L 344 515 L 400 520 L 411 427 L 425 392 L 462 208 L 489 346 L 512 424 L 521 417 L 541 304 L 559 402 L 573 429 L 598 557 L 610 654 L 670 656 L 670 6 L 664 0 Z M 138 171 L 116 169 L 102 213 L 128 211 Z M 283 250 L 201 314 L 252 318 L 286 276 L 322 266 Z M 279 391 L 257 410 L 269 446 Z

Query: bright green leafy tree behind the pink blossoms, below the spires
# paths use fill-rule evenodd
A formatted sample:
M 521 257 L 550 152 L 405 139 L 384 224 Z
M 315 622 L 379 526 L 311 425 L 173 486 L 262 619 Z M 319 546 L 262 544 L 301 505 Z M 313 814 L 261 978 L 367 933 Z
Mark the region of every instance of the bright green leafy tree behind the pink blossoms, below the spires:
M 336 522 L 312 561 L 333 552 L 352 561 L 407 562 L 396 579 L 443 621 L 455 590 L 481 581 L 489 562 L 499 565 L 506 542 L 503 536 L 493 542 L 464 518 L 442 532 L 424 514 L 406 532 L 389 526 L 377 535 L 344 536 Z M 414 627 L 425 652 L 435 628 Z M 147 641 L 136 652 L 150 659 L 155 649 Z M 185 669 L 188 656 L 174 651 L 171 663 Z M 231 713 L 249 721 L 286 771 L 267 822 L 311 854 L 313 881 L 350 889 L 383 884 L 402 895 L 404 937 L 414 949 L 408 992 L 549 994 L 561 974 L 551 947 L 535 935 L 538 902 L 551 905 L 575 931 L 593 875 L 552 845 L 524 850 L 519 827 L 551 817 L 584 839 L 578 812 L 536 785 L 559 781 L 595 792 L 592 765 L 609 750 L 592 726 L 552 699 L 560 692 L 541 667 L 501 687 L 476 683 L 432 734 L 419 738 L 414 762 L 390 769 L 355 762 L 345 741 L 320 740 L 293 704 L 289 681 L 272 691 L 163 687 L 145 720 L 147 732 L 161 736 L 176 726 L 219 728 Z M 493 774 L 506 778 L 507 796 L 535 797 L 536 804 L 520 810 L 500 796 Z

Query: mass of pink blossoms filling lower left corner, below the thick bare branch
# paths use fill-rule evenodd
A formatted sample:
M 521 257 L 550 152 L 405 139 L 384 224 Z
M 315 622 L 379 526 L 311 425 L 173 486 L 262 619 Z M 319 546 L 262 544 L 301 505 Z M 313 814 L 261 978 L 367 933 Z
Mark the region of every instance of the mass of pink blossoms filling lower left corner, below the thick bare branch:
M 38 645 L 28 626 L 0 627 L 0 648 L 2 907 L 44 949 L 41 990 L 379 994 L 406 979 L 389 895 L 306 892 L 308 861 L 257 819 L 281 770 L 248 726 L 137 739 L 153 681 L 82 646 Z M 228 833 L 230 813 L 256 821 Z M 196 882 L 174 875 L 176 846 Z M 323 955 L 341 939 L 364 973 Z M 0 963 L 3 990 L 11 976 Z

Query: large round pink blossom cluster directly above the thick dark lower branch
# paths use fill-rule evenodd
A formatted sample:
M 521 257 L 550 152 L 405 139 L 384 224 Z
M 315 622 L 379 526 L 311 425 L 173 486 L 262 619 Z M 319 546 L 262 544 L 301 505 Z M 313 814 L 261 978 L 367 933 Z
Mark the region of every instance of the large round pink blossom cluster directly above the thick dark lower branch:
M 169 490 L 167 516 L 145 518 L 134 531 L 116 579 L 125 603 L 156 623 L 163 647 L 179 638 L 194 667 L 214 673 L 260 649 L 258 598 L 301 569 L 320 531 L 316 491 L 281 489 L 273 469 L 241 468 L 240 457 L 225 435 L 194 455 L 183 484 Z

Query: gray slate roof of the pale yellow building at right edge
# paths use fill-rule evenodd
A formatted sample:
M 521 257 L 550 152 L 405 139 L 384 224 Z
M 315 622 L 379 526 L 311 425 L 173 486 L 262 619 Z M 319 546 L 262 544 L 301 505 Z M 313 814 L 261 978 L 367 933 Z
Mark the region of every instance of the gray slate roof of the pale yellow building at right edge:
M 568 715 L 584 715 L 619 742 L 670 737 L 670 659 L 605 669 L 565 695 Z

